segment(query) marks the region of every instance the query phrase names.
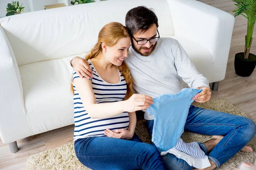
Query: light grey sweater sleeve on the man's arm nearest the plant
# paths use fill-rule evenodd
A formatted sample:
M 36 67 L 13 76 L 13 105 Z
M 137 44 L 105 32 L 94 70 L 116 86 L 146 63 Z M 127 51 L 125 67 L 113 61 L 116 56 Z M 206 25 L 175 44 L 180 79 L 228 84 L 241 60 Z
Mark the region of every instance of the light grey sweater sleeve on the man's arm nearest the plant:
M 180 76 L 190 88 L 209 88 L 209 80 L 198 72 L 188 54 L 177 40 L 175 45 L 172 45 L 172 54 L 175 59 L 175 68 L 178 76 Z

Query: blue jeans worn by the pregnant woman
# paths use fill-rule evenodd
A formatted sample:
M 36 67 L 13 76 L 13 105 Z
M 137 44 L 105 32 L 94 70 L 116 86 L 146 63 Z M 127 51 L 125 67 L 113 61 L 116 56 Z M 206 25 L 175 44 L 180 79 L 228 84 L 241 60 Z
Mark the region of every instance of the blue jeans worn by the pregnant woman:
M 131 140 L 88 137 L 75 141 L 75 152 L 93 170 L 166 170 L 157 148 L 143 143 L 134 133 Z

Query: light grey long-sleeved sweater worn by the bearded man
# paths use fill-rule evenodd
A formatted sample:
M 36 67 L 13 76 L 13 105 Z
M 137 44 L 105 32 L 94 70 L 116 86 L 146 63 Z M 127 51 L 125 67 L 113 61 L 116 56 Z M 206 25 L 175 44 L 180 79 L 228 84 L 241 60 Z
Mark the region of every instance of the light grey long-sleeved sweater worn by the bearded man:
M 198 72 L 180 43 L 173 38 L 160 38 L 156 49 L 143 57 L 130 48 L 125 58 L 134 79 L 134 90 L 153 98 L 161 94 L 176 94 L 182 88 L 182 80 L 190 88 L 209 87 L 209 81 Z M 147 114 L 146 120 L 154 119 Z

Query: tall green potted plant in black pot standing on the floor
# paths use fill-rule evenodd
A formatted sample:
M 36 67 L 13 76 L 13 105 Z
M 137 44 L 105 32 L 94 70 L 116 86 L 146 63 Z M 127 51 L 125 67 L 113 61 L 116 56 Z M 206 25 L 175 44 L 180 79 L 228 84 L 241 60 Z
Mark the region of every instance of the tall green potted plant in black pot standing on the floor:
M 250 53 L 253 42 L 253 28 L 256 21 L 256 0 L 233 0 L 236 9 L 234 16 L 240 14 L 247 19 L 247 35 L 245 36 L 244 52 L 235 55 L 236 74 L 248 77 L 252 74 L 256 66 L 256 55 Z

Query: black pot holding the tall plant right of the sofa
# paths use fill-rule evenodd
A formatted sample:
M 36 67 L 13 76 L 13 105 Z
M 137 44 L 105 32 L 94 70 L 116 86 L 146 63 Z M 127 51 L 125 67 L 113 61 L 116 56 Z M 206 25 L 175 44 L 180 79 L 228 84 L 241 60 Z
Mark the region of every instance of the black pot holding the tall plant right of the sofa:
M 254 54 L 249 54 L 249 55 L 255 56 Z M 243 57 L 244 57 L 244 53 L 237 53 L 235 55 L 235 71 L 236 71 L 236 74 L 241 77 L 248 77 L 253 73 L 253 70 L 256 66 L 256 60 L 255 61 L 244 61 L 242 59 Z M 256 58 L 256 56 L 255 56 L 255 58 Z

